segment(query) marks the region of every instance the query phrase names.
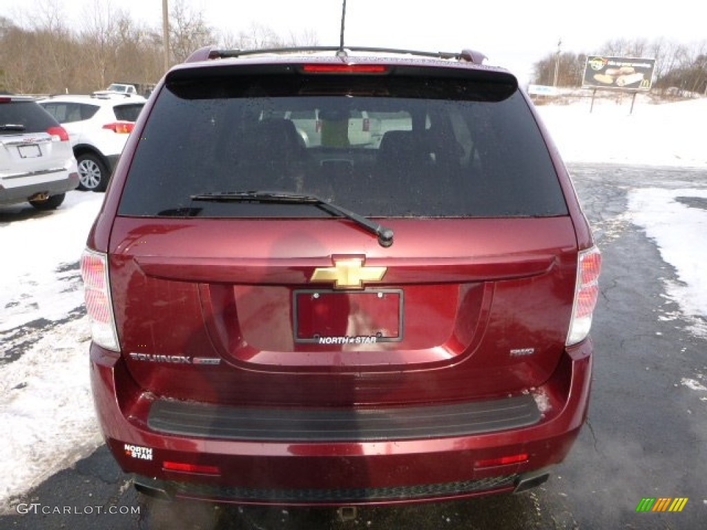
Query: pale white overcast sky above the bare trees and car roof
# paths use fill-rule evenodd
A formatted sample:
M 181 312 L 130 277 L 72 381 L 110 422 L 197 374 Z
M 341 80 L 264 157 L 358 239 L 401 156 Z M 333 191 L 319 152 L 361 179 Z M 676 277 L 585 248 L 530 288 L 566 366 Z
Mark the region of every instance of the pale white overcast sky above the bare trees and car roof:
M 37 1 L 57 1 L 66 17 L 80 23 L 81 6 L 94 0 L 0 0 L 8 13 Z M 162 0 L 97 1 L 112 1 L 134 18 L 161 28 Z M 175 0 L 169 1 L 171 5 Z M 184 1 L 204 11 L 209 25 L 233 34 L 257 23 L 282 36 L 311 30 L 320 45 L 339 44 L 341 0 Z M 527 78 L 532 64 L 554 53 L 560 39 L 563 51 L 588 54 L 621 37 L 707 41 L 706 9 L 700 2 L 671 0 L 660 4 L 660 12 L 654 6 L 626 0 L 347 0 L 345 42 L 445 52 L 478 49 L 489 64 Z

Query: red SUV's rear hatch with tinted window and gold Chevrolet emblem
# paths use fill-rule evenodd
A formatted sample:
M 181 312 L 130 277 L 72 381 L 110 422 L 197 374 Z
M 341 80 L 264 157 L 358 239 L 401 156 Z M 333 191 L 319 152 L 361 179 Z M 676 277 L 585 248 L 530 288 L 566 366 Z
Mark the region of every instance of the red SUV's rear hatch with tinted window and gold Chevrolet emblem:
M 515 78 L 242 63 L 172 71 L 139 132 L 109 248 L 136 384 L 217 404 L 395 406 L 547 381 L 578 243 Z M 269 118 L 303 112 L 321 145 Z M 346 135 L 363 114 L 381 134 L 362 144 Z

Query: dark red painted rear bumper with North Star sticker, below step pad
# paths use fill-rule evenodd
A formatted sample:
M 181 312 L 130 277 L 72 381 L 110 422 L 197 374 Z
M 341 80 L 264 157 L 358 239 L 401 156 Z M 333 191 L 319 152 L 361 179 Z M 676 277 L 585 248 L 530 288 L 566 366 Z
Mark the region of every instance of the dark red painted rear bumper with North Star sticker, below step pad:
M 187 435 L 188 426 L 182 434 L 162 432 L 148 423 L 154 400 L 136 387 L 122 358 L 93 345 L 91 381 L 107 444 L 143 490 L 278 505 L 421 502 L 512 491 L 562 461 L 588 411 L 591 349 L 590 341 L 571 348 L 534 391 L 541 414 L 532 425 L 414 439 L 264 442 Z M 527 458 L 488 464 L 519 454 Z

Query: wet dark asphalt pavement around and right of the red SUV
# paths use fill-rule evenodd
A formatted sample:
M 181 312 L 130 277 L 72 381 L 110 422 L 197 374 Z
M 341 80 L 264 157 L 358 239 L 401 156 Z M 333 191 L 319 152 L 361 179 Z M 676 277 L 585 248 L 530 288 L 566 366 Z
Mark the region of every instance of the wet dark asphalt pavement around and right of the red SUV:
M 700 529 L 707 527 L 707 338 L 665 296 L 674 270 L 626 215 L 630 189 L 707 189 L 707 170 L 571 165 L 604 257 L 589 421 L 550 480 L 520 495 L 361 508 L 214 506 L 139 498 L 105 446 L 23 496 L 0 529 Z M 707 209 L 704 199 L 681 199 Z M 705 271 L 707 272 L 707 266 Z M 636 512 L 686 497 L 682 512 Z M 118 513 L 110 513 L 118 512 Z

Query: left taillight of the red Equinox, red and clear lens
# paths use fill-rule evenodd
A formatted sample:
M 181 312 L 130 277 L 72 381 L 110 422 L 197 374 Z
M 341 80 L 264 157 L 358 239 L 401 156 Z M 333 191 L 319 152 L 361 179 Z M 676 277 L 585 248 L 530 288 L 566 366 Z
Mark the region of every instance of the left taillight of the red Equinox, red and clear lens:
M 93 342 L 107 350 L 119 351 L 106 255 L 88 249 L 83 251 L 81 277 Z

